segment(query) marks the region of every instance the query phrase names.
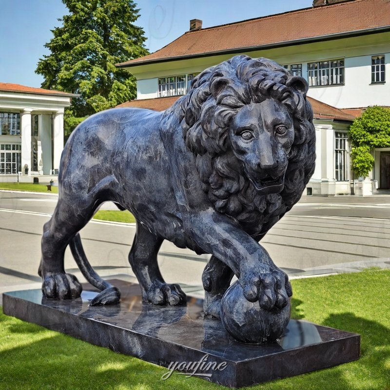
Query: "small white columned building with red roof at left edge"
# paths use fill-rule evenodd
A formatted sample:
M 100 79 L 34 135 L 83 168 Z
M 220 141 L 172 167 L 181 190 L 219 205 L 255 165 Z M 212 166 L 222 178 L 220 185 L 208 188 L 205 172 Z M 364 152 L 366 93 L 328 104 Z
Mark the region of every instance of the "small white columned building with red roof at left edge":
M 0 82 L 0 181 L 56 175 L 64 146 L 64 108 L 75 96 Z M 49 181 L 45 177 L 45 181 Z

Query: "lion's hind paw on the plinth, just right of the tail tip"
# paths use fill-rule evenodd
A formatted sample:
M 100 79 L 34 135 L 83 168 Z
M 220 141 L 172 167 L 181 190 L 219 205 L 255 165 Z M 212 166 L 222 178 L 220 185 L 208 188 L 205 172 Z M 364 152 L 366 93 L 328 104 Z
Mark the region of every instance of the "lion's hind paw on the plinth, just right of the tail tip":
M 177 306 L 186 303 L 186 294 L 178 284 L 167 284 L 159 281 L 153 282 L 146 292 L 148 302 L 154 305 Z

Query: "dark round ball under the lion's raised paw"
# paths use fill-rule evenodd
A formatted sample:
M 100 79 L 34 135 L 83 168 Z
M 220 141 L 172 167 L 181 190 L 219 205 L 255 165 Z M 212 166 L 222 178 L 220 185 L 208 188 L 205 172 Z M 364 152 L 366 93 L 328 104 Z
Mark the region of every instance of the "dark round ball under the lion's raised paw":
M 283 334 L 290 321 L 290 301 L 283 309 L 267 311 L 259 302 L 246 300 L 238 281 L 225 292 L 221 301 L 221 321 L 237 341 L 250 344 L 272 343 Z

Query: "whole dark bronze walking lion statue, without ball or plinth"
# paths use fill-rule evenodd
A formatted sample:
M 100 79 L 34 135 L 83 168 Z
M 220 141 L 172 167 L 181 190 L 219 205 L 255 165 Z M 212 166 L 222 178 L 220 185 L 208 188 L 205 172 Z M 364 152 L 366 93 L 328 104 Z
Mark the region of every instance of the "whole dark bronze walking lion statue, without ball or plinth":
M 236 56 L 199 74 L 164 112 L 118 108 L 83 121 L 64 147 L 58 204 L 43 229 L 43 294 L 80 295 L 64 270 L 69 245 L 102 291 L 91 305 L 119 301 L 117 288 L 88 263 L 78 234 L 101 203 L 113 201 L 137 220 L 129 261 L 145 301 L 186 301 L 158 269 L 158 250 L 169 240 L 212 254 L 202 277 L 206 314 L 219 317 L 234 274 L 248 301 L 285 307 L 288 277 L 259 241 L 299 200 L 314 170 L 307 90 L 304 78 L 269 59 Z

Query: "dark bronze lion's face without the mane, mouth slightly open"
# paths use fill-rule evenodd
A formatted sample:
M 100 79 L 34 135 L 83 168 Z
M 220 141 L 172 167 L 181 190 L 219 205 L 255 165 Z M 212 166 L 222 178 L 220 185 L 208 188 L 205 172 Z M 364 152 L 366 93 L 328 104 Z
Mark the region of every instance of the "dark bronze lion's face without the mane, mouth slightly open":
M 229 139 L 234 155 L 243 163 L 245 175 L 259 194 L 283 190 L 294 128 L 282 102 L 267 98 L 242 107 L 231 122 Z

